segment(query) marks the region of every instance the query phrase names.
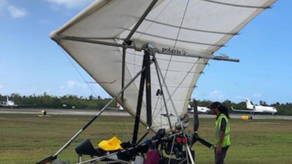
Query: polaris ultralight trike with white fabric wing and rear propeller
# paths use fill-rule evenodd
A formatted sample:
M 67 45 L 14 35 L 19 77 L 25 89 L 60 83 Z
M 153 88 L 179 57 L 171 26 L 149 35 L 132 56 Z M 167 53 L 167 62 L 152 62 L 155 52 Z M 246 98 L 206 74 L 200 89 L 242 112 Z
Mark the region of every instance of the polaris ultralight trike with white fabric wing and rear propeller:
M 190 149 L 194 142 L 212 148 L 197 135 L 197 108 L 194 131 L 185 132 L 189 125 L 187 107 L 197 80 L 210 59 L 239 62 L 215 56 L 214 52 L 275 1 L 93 2 L 50 37 L 113 98 L 55 154 L 38 164 L 64 164 L 58 155 L 115 100 L 135 117 L 132 140 L 123 142 L 123 149 L 113 151 L 97 151 L 84 140 L 75 149 L 77 155 L 92 158 L 79 158 L 79 164 L 142 164 L 141 154 L 146 153 L 148 145 L 141 142 L 149 137 L 150 130 L 156 135 L 148 144 L 160 148 L 162 163 L 194 164 L 194 151 Z M 139 123 L 147 131 L 140 139 Z

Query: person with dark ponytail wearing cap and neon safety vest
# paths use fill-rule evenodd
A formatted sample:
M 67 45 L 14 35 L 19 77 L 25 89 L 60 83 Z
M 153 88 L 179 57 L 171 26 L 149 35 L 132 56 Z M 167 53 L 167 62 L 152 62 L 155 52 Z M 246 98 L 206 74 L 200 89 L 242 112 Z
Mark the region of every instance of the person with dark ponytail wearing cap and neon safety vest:
M 220 102 L 213 102 L 209 107 L 217 116 L 215 122 L 215 164 L 224 164 L 227 149 L 230 146 L 229 114 Z

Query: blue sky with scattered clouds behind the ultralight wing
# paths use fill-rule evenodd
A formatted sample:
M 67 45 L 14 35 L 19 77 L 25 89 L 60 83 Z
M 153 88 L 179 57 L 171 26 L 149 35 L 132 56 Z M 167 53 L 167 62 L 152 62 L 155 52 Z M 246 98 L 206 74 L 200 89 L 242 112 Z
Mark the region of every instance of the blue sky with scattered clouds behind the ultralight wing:
M 49 39 L 93 0 L 0 0 L 0 94 L 74 94 L 92 92 L 60 48 Z M 279 0 L 252 20 L 218 52 L 239 63 L 210 61 L 192 97 L 258 103 L 292 102 L 292 1 Z M 71 59 L 72 60 L 72 59 Z M 93 81 L 74 63 L 86 81 Z M 97 84 L 96 94 L 109 95 Z

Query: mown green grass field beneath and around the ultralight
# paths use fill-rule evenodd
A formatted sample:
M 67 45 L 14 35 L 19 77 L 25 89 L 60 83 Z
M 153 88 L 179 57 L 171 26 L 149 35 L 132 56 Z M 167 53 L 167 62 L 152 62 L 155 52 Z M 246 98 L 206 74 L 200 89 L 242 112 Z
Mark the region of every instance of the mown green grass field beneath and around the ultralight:
M 33 114 L 1 114 L 0 163 L 34 164 L 51 156 L 90 118 L 91 116 L 53 115 L 41 118 Z M 76 162 L 74 147 L 84 138 L 91 139 L 95 147 L 101 140 L 112 136 L 128 141 L 133 131 L 133 122 L 131 117 L 100 116 L 58 158 Z M 199 135 L 210 142 L 213 142 L 214 122 L 213 118 L 200 119 Z M 230 124 L 232 146 L 228 150 L 226 163 L 292 163 L 292 120 L 230 119 Z M 145 128 L 141 125 L 140 135 L 143 132 Z M 199 143 L 193 149 L 196 152 L 196 164 L 214 163 L 212 150 Z

